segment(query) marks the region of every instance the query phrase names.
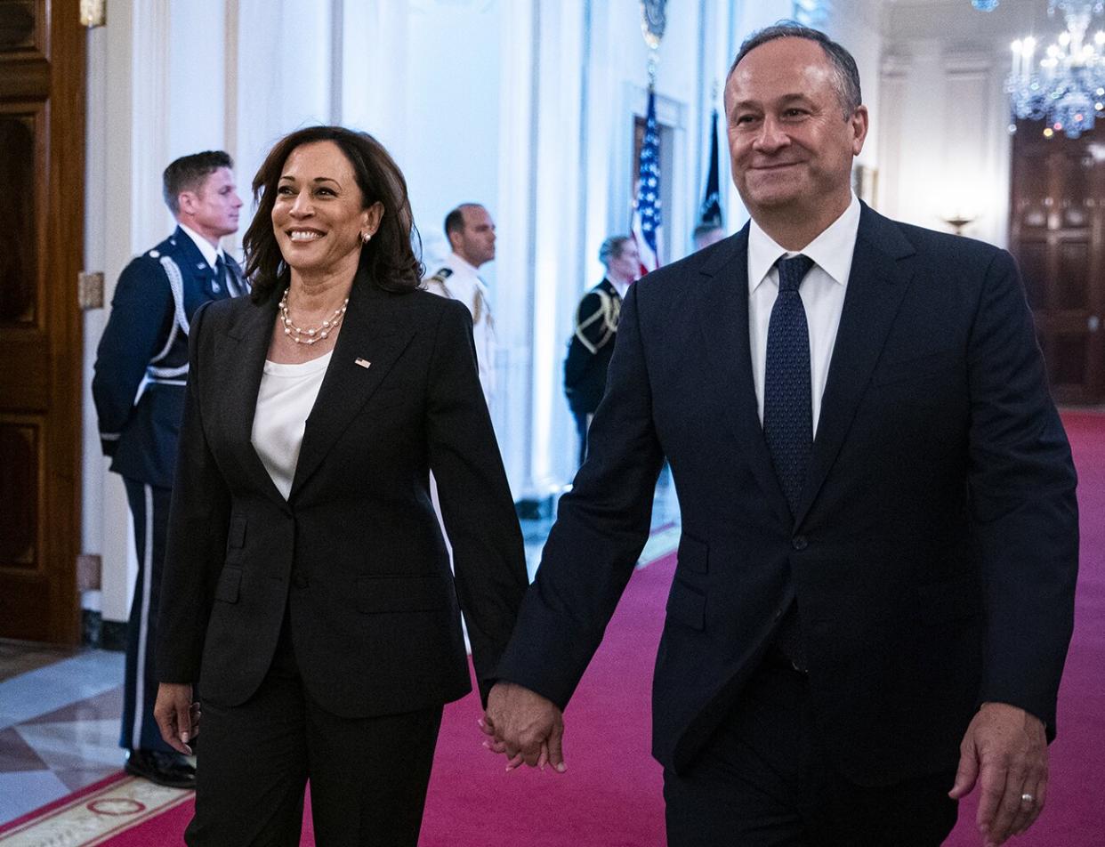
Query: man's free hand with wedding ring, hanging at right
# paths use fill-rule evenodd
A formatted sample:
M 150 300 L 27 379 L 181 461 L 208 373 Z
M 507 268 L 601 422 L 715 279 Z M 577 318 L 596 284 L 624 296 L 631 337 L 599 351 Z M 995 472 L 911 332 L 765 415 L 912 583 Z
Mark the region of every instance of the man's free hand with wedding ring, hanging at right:
M 960 800 L 976 781 L 976 823 L 986 847 L 1028 829 L 1048 798 L 1048 739 L 1043 722 L 1014 706 L 982 703 L 959 744 L 959 770 L 948 792 Z

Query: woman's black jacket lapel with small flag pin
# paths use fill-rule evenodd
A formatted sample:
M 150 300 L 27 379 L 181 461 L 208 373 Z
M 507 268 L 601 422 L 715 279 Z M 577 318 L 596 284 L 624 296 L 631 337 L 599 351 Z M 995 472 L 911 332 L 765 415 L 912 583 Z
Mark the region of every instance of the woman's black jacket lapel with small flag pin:
M 288 500 L 318 469 L 413 337 L 396 297 L 377 288 L 365 274 L 354 283 L 334 356 L 307 417 Z

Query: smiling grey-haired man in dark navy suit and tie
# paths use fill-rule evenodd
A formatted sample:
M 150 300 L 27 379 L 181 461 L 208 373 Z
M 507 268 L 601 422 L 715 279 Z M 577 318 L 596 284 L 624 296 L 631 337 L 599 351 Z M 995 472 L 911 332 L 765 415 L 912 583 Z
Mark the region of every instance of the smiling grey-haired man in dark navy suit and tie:
M 634 283 L 485 721 L 562 767 L 561 710 L 649 533 L 683 519 L 656 657 L 667 844 L 936 847 L 1024 832 L 1073 625 L 1077 505 L 1012 257 L 851 190 L 852 56 L 780 24 L 725 88 L 751 222 Z M 617 753 L 614 753 L 617 755 Z

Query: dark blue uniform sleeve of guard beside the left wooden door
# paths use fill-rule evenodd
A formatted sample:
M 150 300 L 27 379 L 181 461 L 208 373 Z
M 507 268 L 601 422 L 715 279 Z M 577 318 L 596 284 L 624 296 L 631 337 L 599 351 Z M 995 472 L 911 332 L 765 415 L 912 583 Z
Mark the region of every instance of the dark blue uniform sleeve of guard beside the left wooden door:
M 107 456 L 115 454 L 146 366 L 168 338 L 172 309 L 169 280 L 155 260 L 139 256 L 123 269 L 92 378 L 101 443 Z

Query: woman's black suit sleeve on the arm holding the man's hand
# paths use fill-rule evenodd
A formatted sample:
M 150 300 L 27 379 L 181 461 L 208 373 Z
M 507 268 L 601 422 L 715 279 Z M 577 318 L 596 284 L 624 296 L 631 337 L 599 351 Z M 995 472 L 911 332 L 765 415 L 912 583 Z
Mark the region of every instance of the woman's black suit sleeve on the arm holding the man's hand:
M 428 416 L 430 467 L 486 703 L 528 579 L 514 499 L 480 387 L 472 317 L 456 300 L 443 303 L 438 324 Z

